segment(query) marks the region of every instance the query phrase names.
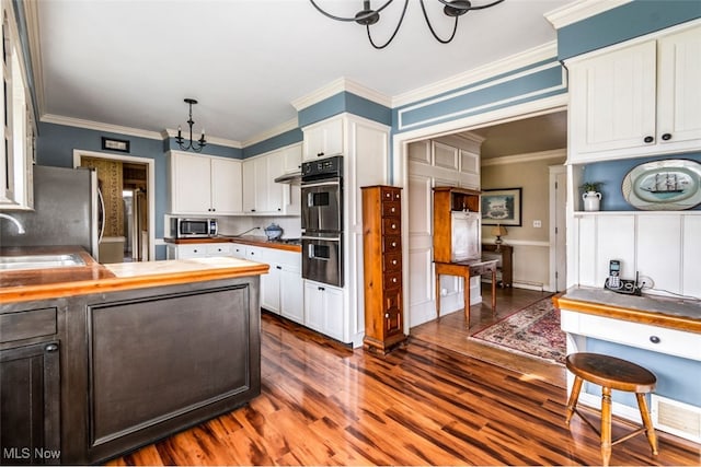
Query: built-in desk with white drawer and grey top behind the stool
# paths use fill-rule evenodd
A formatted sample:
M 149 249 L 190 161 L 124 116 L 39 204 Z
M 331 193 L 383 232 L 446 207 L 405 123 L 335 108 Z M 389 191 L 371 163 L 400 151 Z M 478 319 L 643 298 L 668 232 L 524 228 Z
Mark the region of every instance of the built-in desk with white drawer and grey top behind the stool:
M 589 287 L 568 289 L 553 302 L 567 334 L 567 353 L 604 353 L 648 369 L 657 376 L 651 397 L 654 427 L 701 441 L 701 302 Z M 573 381 L 567 374 L 568 390 Z M 599 407 L 600 397 L 600 388 L 587 384 L 579 400 Z M 631 395 L 613 393 L 614 415 L 639 420 L 635 405 Z

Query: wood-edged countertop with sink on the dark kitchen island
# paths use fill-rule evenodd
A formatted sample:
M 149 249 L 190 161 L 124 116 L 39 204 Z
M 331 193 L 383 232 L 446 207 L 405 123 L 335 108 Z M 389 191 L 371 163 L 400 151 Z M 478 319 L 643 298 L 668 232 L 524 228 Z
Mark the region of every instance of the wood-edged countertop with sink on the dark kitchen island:
M 269 266 L 231 257 L 101 265 L 77 246 L 0 248 L 0 255 L 78 254 L 85 266 L 0 272 L 0 303 L 26 302 L 267 273 Z

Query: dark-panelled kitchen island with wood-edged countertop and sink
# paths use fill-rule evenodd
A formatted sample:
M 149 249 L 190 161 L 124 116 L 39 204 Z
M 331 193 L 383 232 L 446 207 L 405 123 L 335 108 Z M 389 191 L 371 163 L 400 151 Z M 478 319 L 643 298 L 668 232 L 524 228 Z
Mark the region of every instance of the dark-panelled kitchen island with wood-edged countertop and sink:
M 260 394 L 267 265 L 78 253 L 84 266 L 0 272 L 3 464 L 104 462 Z

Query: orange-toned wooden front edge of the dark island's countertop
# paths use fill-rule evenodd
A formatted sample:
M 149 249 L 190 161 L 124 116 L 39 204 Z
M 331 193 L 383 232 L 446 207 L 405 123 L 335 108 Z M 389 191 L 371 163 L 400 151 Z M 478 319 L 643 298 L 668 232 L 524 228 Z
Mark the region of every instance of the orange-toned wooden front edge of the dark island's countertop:
M 161 285 L 176 285 L 189 282 L 234 279 L 266 273 L 268 265 L 239 266 L 237 268 L 212 268 L 196 271 L 165 272 L 148 276 L 92 279 L 76 282 L 59 282 L 35 287 L 0 288 L 0 302 L 30 302 L 34 300 L 59 299 L 93 293 L 117 292 Z

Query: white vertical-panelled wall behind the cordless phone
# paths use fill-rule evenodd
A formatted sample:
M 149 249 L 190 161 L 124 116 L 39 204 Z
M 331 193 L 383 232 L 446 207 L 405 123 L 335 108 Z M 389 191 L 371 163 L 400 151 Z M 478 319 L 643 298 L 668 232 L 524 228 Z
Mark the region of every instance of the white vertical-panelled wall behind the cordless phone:
M 701 212 L 575 213 L 576 283 L 604 287 L 609 260 L 646 292 L 701 296 Z

